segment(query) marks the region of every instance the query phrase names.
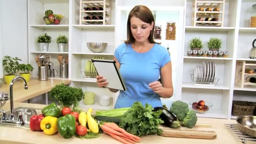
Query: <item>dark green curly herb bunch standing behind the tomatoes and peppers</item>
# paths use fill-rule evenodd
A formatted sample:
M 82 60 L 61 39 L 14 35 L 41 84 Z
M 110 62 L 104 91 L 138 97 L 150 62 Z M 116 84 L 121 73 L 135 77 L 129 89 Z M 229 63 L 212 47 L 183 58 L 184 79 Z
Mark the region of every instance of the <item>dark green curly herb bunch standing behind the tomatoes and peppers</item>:
M 73 112 L 80 112 L 79 101 L 84 99 L 84 95 L 81 88 L 69 87 L 61 83 L 51 90 L 50 98 L 58 102 L 61 109 L 72 107 Z

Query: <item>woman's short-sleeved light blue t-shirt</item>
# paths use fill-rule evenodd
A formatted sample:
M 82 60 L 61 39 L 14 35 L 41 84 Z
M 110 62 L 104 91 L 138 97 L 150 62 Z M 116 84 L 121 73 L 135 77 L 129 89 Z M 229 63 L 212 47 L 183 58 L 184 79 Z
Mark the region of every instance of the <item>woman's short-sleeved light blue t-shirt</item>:
M 155 44 L 149 51 L 138 53 L 131 44 L 123 43 L 117 47 L 114 56 L 120 63 L 120 75 L 127 89 L 120 91 L 115 108 L 131 107 L 135 101 L 144 106 L 148 103 L 152 107 L 162 107 L 159 95 L 148 85 L 158 80 L 160 68 L 171 61 L 166 48 Z

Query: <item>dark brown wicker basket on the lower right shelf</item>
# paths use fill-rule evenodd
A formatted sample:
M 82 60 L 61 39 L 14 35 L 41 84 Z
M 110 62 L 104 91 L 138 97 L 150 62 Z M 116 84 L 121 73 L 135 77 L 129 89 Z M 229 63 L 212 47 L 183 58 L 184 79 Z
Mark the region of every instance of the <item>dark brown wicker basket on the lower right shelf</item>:
M 244 116 L 253 115 L 255 106 L 248 101 L 233 101 L 232 104 L 232 115 Z

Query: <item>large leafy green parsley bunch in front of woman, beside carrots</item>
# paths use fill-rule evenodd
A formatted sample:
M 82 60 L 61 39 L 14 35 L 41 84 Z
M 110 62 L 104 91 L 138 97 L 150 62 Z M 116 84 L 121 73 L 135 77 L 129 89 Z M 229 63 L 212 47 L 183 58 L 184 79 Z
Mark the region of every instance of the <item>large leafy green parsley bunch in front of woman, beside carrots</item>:
M 153 112 L 152 110 L 153 108 L 149 104 L 145 104 L 145 107 L 143 107 L 141 102 L 134 102 L 131 109 L 124 113 L 119 125 L 128 133 L 136 136 L 155 133 L 160 135 L 162 131 L 158 126 L 163 123 L 163 120 L 159 118 L 162 111 Z

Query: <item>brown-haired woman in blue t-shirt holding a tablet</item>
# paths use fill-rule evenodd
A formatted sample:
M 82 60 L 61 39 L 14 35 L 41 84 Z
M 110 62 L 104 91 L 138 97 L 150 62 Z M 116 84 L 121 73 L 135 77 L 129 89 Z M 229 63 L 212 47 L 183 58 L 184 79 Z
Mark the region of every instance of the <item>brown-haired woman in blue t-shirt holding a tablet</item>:
M 154 26 L 154 17 L 146 6 L 137 5 L 129 13 L 127 41 L 114 54 L 127 91 L 120 91 L 115 108 L 131 107 L 135 101 L 162 107 L 160 97 L 173 95 L 171 58 L 166 48 L 153 40 Z M 163 85 L 157 81 L 160 75 Z M 99 87 L 107 86 L 104 76 L 96 79 Z

